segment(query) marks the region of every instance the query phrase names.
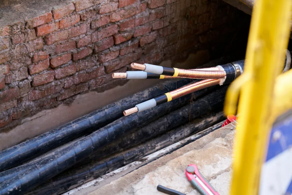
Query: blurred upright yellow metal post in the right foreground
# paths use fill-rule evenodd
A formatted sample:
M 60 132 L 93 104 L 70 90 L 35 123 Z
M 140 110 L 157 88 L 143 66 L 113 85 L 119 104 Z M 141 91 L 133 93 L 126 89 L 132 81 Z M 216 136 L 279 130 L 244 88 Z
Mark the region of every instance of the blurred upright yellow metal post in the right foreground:
M 273 122 L 269 119 L 274 81 L 284 63 L 288 44 L 291 3 L 290 0 L 258 0 L 253 7 L 245 69 L 241 76 L 245 79 L 240 79 L 244 84 L 234 143 L 231 195 L 258 194 L 260 169 Z M 231 86 L 227 101 L 232 100 L 235 91 L 236 87 Z M 230 105 L 234 106 L 234 102 L 227 102 L 225 110 L 232 110 Z

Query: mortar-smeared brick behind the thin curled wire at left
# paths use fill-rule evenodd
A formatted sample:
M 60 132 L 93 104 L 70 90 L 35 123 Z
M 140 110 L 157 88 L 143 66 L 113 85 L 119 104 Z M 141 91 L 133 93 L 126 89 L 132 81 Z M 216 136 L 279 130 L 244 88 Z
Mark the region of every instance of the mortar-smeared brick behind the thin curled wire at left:
M 18 45 L 18 47 L 15 50 L 15 54 L 17 57 L 23 56 L 35 50 L 42 49 L 43 46 L 44 46 L 43 39 L 39 37 L 38 39 L 34 39 L 32 41 L 27 42 L 26 45 L 24 44 Z

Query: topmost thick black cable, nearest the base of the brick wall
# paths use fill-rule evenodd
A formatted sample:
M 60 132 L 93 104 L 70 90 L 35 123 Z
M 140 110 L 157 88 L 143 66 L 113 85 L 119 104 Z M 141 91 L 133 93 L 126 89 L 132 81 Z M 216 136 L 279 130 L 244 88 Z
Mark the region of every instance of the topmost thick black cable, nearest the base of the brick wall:
M 124 110 L 177 89 L 178 87 L 182 87 L 189 82 L 191 82 L 190 79 L 166 81 L 84 115 L 81 118 L 22 142 L 21 144 L 0 151 L 0 172 L 20 165 L 77 137 L 89 134 L 122 117 Z

